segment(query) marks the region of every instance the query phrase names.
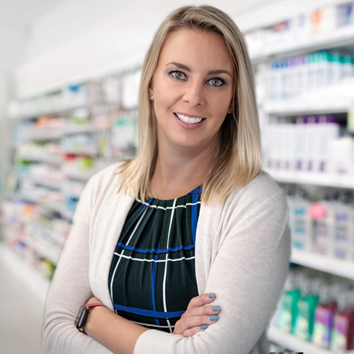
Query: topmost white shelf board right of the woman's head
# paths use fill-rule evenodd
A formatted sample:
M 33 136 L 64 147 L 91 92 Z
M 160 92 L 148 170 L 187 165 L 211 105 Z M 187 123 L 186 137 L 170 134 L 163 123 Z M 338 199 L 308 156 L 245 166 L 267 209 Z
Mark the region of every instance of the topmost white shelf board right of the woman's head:
M 284 57 L 301 55 L 307 52 L 315 52 L 328 48 L 336 48 L 354 43 L 354 25 L 343 26 L 331 32 L 320 33 L 295 40 L 282 40 L 276 45 L 263 45 L 259 51 L 252 52 L 250 48 L 250 59 L 252 64 L 267 60 L 269 57 Z

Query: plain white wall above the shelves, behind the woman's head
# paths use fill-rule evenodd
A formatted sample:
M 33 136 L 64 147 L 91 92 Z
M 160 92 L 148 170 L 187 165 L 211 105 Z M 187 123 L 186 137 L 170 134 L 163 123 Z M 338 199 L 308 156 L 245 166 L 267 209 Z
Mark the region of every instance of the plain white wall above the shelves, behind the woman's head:
M 343 2 L 333 0 L 330 2 Z M 211 0 L 242 31 L 271 24 L 328 0 Z M 184 1 L 65 0 L 33 23 L 26 62 L 16 74 L 18 97 L 30 97 L 142 63 L 162 20 Z M 195 3 L 198 5 L 198 3 Z

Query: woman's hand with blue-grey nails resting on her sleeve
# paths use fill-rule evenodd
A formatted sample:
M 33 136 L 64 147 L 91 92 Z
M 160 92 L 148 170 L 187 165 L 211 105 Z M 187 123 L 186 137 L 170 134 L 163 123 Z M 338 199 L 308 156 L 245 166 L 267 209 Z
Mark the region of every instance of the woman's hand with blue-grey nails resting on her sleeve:
M 210 320 L 209 316 L 217 315 L 221 309 L 219 308 L 217 311 L 213 311 L 212 307 L 215 305 L 204 306 L 205 304 L 213 302 L 216 298 L 216 296 L 210 298 L 208 295 L 209 293 L 202 294 L 190 300 L 187 310 L 176 322 L 173 334 L 191 337 L 195 335 L 195 333 L 205 330 L 206 327 L 201 329 L 201 325 L 210 325 L 217 321 L 217 319 L 213 321 Z

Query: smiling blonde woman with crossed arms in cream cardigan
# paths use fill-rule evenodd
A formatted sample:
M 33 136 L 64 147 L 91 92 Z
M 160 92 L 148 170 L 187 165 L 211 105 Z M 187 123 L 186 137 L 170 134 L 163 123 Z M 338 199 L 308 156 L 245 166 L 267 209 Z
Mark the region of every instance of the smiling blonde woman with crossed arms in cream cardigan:
M 215 7 L 177 9 L 143 64 L 137 158 L 80 196 L 47 296 L 46 353 L 269 352 L 290 231 L 261 166 L 242 34 Z

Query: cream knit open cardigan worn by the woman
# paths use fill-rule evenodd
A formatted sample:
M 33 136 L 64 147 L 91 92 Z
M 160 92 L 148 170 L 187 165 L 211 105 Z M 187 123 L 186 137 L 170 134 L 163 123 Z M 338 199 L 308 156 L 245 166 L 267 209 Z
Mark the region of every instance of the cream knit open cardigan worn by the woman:
M 109 309 L 108 272 L 134 197 L 117 194 L 119 163 L 87 182 L 51 282 L 42 328 L 47 354 L 108 354 L 74 327 L 91 296 Z M 195 242 L 199 294 L 214 292 L 222 310 L 193 337 L 148 330 L 134 354 L 269 353 L 265 329 L 284 287 L 290 260 L 286 198 L 265 172 L 219 205 L 200 207 Z

